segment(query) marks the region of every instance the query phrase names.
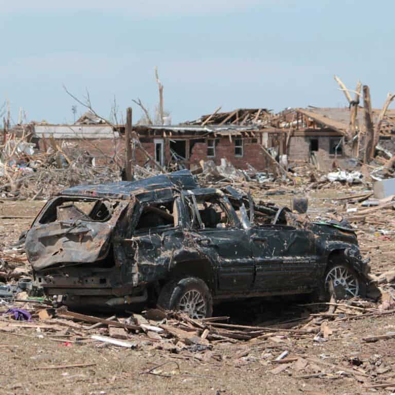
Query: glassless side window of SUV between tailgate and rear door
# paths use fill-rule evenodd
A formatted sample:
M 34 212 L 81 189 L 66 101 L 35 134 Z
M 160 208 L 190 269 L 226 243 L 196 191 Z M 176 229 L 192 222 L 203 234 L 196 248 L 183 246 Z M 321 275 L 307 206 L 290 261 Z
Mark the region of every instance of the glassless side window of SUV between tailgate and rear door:
M 174 201 L 158 204 L 153 203 L 143 206 L 135 230 L 139 232 L 155 232 L 175 227 L 173 202 Z

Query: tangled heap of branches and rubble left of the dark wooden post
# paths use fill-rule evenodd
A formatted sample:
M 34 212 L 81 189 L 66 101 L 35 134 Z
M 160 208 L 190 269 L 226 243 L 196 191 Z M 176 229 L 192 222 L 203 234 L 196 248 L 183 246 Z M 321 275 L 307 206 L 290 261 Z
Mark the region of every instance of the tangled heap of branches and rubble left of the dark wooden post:
M 48 199 L 61 189 L 78 184 L 119 181 L 120 167 L 93 166 L 92 158 L 80 150 L 67 150 L 53 139 L 40 152 L 25 136 L 6 136 L 0 157 L 2 199 Z

